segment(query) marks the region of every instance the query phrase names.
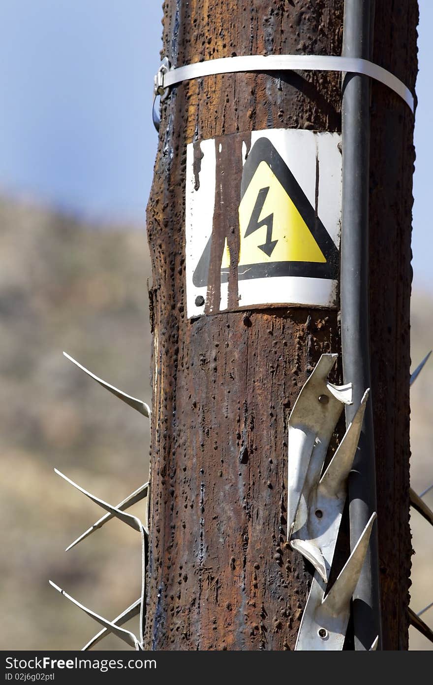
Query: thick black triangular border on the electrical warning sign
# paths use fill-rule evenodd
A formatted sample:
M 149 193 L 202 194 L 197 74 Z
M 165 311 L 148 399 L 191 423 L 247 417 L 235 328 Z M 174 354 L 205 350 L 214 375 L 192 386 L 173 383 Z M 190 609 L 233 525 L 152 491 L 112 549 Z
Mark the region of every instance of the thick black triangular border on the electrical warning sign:
M 241 200 L 244 198 L 246 190 L 252 181 L 254 173 L 261 162 L 266 162 L 272 173 L 278 179 L 281 186 L 289 195 L 291 201 L 298 209 L 306 227 L 311 232 L 315 242 L 322 251 L 326 262 L 267 262 L 262 264 L 241 264 L 238 266 L 238 280 L 250 278 L 265 278 L 276 276 L 298 276 L 307 278 L 324 278 L 337 280 L 339 277 L 339 250 L 334 241 L 328 234 L 322 221 L 317 216 L 309 199 L 298 184 L 298 181 L 291 173 L 289 167 L 280 156 L 269 138 L 259 138 L 256 140 L 242 171 L 241 179 Z M 209 273 L 209 262 L 211 258 L 211 240 L 202 252 L 198 264 L 192 275 L 192 282 L 196 288 L 207 286 L 207 276 Z M 221 269 L 221 282 L 228 282 L 228 269 Z

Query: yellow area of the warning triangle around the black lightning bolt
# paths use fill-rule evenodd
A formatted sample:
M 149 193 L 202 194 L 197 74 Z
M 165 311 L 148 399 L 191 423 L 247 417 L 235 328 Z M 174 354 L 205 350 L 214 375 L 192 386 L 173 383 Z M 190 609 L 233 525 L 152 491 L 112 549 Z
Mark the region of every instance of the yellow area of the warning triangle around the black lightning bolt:
M 258 223 L 273 214 L 272 240 L 277 240 L 270 256 L 259 245 L 266 242 L 265 225 L 250 233 L 245 233 L 250 222 L 254 205 L 261 188 L 269 188 Z M 278 181 L 266 162 L 260 162 L 251 179 L 239 206 L 239 230 L 241 246 L 239 265 L 266 264 L 268 262 L 326 262 L 322 250 L 317 245 L 304 219 L 295 204 Z M 222 258 L 222 269 L 230 266 L 227 243 Z

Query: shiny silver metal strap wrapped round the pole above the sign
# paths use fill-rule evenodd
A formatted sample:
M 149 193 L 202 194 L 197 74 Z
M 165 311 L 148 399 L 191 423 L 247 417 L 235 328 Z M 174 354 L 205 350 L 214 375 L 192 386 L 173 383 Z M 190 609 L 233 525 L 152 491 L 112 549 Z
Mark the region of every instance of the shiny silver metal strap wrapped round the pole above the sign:
M 382 66 L 360 58 L 332 55 L 246 55 L 194 62 L 177 69 L 170 69 L 168 65 L 168 60 L 164 60 L 155 77 L 155 94 L 164 95 L 167 88 L 183 81 L 239 71 L 346 71 L 369 76 L 391 88 L 404 99 L 411 112 L 414 111 L 413 95 L 402 81 Z

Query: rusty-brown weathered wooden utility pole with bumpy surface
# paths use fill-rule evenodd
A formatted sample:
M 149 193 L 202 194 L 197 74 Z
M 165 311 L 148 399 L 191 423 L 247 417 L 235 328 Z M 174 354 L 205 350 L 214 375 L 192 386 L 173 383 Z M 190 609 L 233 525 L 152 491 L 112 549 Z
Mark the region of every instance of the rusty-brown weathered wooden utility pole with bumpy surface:
M 162 54 L 174 66 L 235 55 L 341 54 L 343 0 L 166 0 L 163 12 Z M 412 91 L 417 18 L 416 0 L 392 9 L 376 0 L 372 60 Z M 382 640 L 384 649 L 406 649 L 414 119 L 385 86 L 373 83 L 371 93 L 370 349 Z M 230 311 L 236 307 L 229 285 L 228 311 L 215 311 L 219 261 L 204 315 L 187 316 L 186 146 L 217 139 L 216 163 L 228 181 L 218 202 L 233 216 L 236 145 L 248 147 L 248 134 L 264 129 L 341 132 L 341 74 L 213 75 L 172 88 L 163 103 L 147 212 L 154 390 L 148 649 L 293 649 L 311 584 L 312 566 L 285 545 L 287 423 L 321 354 L 341 355 L 339 308 Z M 226 145 L 225 136 L 239 132 L 244 138 Z M 197 145 L 194 151 L 200 169 L 202 152 Z M 219 223 L 213 216 L 222 242 L 212 245 L 209 273 L 222 259 L 224 239 L 231 254 L 239 251 L 224 211 Z M 229 284 L 235 278 L 230 271 Z M 341 356 L 333 380 L 343 381 Z M 343 429 L 340 423 L 340 436 Z

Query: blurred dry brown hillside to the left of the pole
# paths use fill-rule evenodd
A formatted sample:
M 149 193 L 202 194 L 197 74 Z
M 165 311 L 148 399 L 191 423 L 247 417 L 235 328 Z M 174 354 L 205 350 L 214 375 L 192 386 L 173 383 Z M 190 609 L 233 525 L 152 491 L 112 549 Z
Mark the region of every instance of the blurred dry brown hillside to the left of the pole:
M 146 236 L 5 202 L 0 226 L 0 648 L 79 649 L 96 626 L 48 579 L 113 618 L 140 596 L 140 539 L 111 521 L 64 553 L 101 512 L 53 467 L 116 504 L 148 477 L 148 425 L 62 350 L 149 399 Z

